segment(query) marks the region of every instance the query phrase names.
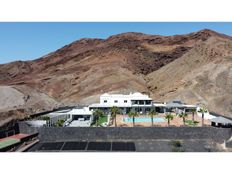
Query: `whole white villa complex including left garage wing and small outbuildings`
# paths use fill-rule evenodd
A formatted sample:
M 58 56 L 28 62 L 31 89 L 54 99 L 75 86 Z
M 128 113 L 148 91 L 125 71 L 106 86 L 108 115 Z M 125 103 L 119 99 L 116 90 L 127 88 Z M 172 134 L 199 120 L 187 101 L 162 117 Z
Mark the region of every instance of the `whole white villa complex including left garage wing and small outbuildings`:
M 151 109 L 158 113 L 175 112 L 176 114 L 181 112 L 190 113 L 193 109 L 196 109 L 197 115 L 201 117 L 201 113 L 198 112 L 199 106 L 188 105 L 179 100 L 162 103 L 154 102 L 148 95 L 139 92 L 130 94 L 105 93 L 100 96 L 99 103 L 90 104 L 86 107 L 75 107 L 51 112 L 46 115 L 41 115 L 36 120 L 26 121 L 26 123 L 34 127 L 56 126 L 59 120 L 63 120 L 63 126 L 65 127 L 90 127 L 94 121 L 93 112 L 97 109 L 101 109 L 105 115 L 108 115 L 108 124 L 110 121 L 110 109 L 113 106 L 119 108 L 119 114 L 121 115 L 126 115 L 131 110 L 141 115 L 146 115 Z M 44 117 L 46 117 L 46 119 L 43 119 Z M 213 118 L 215 118 L 215 116 L 209 114 L 209 112 L 205 113 L 205 119 Z

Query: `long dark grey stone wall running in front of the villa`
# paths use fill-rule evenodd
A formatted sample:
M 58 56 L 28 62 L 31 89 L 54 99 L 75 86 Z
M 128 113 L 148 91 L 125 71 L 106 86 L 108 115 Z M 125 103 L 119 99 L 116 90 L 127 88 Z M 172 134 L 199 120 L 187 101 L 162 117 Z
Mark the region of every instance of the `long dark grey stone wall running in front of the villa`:
M 40 141 L 96 141 L 136 139 L 212 139 L 227 140 L 231 129 L 215 127 L 42 127 Z

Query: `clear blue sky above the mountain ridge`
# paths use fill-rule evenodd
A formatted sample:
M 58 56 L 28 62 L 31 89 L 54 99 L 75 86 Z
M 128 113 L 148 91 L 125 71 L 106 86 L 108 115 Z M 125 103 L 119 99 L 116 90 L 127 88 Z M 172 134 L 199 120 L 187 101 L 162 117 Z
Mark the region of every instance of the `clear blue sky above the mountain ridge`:
M 232 22 L 0 22 L 0 64 L 37 59 L 81 38 L 124 32 L 169 36 L 206 28 L 232 36 Z

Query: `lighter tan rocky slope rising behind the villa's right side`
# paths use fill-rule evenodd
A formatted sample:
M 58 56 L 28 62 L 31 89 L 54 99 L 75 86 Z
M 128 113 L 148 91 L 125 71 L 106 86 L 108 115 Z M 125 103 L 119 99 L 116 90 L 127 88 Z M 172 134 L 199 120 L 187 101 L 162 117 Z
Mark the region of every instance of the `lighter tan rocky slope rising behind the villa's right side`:
M 232 42 L 210 38 L 181 58 L 150 73 L 154 98 L 180 98 L 232 116 Z

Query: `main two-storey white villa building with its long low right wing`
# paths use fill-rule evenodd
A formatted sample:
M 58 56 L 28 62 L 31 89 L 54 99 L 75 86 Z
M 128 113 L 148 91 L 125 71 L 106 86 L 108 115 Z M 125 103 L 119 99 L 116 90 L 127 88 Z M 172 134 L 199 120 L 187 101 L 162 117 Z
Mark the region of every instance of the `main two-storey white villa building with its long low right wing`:
M 127 95 L 105 93 L 100 96 L 100 103 L 91 104 L 89 108 L 90 110 L 102 109 L 105 113 L 109 113 L 110 108 L 113 106 L 119 108 L 120 114 L 127 114 L 131 109 L 139 114 L 147 114 L 151 109 L 159 113 L 164 113 L 172 109 L 188 110 L 197 108 L 196 105 L 187 105 L 181 101 L 156 103 L 148 95 L 139 92 Z

